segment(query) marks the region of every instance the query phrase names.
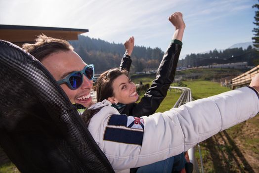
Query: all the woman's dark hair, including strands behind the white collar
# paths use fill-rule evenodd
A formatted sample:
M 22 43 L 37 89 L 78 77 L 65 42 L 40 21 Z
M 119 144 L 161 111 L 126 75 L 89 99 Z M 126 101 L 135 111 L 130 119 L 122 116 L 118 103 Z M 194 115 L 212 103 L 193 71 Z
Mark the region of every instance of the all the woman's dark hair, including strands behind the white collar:
M 109 97 L 112 97 L 114 95 L 112 84 L 116 78 L 118 78 L 121 75 L 129 76 L 128 71 L 121 70 L 119 68 L 110 69 L 106 72 L 103 72 L 98 80 L 96 81 L 96 89 L 97 89 L 97 102 L 103 101 L 104 99 L 107 99 Z M 81 115 L 81 118 L 86 123 L 86 126 L 88 127 L 89 122 L 91 118 L 99 112 L 101 108 L 97 109 L 90 109 L 85 110 L 84 113 Z

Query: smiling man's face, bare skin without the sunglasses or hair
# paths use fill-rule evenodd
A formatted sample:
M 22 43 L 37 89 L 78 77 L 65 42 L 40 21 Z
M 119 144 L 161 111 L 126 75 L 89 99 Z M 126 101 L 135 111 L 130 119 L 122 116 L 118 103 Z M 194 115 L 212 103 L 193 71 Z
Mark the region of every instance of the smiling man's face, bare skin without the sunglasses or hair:
M 44 58 L 42 63 L 56 81 L 64 79 L 72 72 L 81 71 L 86 66 L 81 57 L 72 50 L 52 53 Z M 66 84 L 61 84 L 60 87 L 65 91 L 71 103 L 79 103 L 89 107 L 92 104 L 90 95 L 92 81 L 87 79 L 85 75 L 83 76 L 83 84 L 75 90 L 70 89 Z

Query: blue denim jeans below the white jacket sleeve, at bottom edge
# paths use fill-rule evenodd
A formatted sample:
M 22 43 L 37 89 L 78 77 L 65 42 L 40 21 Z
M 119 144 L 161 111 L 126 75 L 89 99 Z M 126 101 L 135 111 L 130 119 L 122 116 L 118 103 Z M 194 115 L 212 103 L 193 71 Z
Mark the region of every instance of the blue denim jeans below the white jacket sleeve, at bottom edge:
M 136 173 L 172 173 L 172 170 L 182 170 L 185 163 L 184 153 L 181 153 L 166 160 L 139 167 Z

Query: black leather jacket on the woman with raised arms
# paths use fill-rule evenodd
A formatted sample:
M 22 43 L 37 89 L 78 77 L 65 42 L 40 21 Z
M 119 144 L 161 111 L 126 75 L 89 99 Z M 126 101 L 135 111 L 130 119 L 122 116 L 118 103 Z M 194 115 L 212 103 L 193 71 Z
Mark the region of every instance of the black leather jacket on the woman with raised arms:
M 141 98 L 140 102 L 130 103 L 120 108 L 117 107 L 121 114 L 141 117 L 155 113 L 163 99 L 166 97 L 170 85 L 173 83 L 181 51 L 181 44 L 178 43 L 171 43 L 169 45 L 157 70 L 156 79 Z M 120 68 L 129 71 L 130 65 L 131 59 L 124 57 L 121 61 Z

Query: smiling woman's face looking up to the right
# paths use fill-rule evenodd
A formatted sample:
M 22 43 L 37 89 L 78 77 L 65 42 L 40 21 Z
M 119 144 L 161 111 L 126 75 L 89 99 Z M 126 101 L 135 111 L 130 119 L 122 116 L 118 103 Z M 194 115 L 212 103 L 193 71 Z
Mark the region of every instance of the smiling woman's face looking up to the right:
M 112 84 L 114 96 L 109 101 L 112 103 L 129 104 L 137 101 L 139 95 L 136 86 L 126 75 L 117 77 Z

